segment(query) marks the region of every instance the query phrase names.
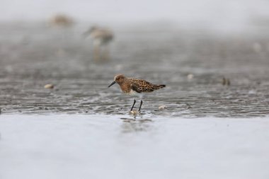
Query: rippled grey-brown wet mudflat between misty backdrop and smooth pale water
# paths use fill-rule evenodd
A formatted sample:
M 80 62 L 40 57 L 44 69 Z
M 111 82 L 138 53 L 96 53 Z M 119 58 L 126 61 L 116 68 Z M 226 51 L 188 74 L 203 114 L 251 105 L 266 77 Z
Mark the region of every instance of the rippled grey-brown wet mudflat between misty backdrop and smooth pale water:
M 122 95 L 117 85 L 107 88 L 120 73 L 166 84 L 145 96 L 142 115 L 269 114 L 268 35 L 117 28 L 110 60 L 96 63 L 91 40 L 81 37 L 84 30 L 2 23 L 1 112 L 125 115 L 133 99 Z M 231 85 L 223 86 L 223 78 Z M 55 88 L 45 89 L 47 83 Z M 166 108 L 159 110 L 160 105 Z

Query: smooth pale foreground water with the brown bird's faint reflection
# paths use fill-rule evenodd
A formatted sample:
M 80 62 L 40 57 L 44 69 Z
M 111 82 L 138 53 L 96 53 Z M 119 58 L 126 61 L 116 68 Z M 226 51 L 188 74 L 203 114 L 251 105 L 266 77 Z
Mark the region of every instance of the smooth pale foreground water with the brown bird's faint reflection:
M 1 115 L 0 178 L 269 176 L 268 117 Z

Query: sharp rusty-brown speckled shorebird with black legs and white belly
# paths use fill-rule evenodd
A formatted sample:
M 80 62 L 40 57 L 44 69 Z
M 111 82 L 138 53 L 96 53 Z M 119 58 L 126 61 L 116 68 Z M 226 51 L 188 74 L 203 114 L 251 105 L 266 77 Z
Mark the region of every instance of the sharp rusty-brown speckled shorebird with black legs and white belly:
M 118 74 L 114 77 L 114 81 L 110 84 L 110 86 L 113 86 L 113 84 L 118 83 L 120 85 L 120 88 L 123 93 L 126 93 L 127 95 L 131 96 L 139 96 L 140 97 L 140 106 L 139 106 L 139 112 L 141 111 L 142 106 L 142 96 L 143 93 L 149 93 L 155 90 L 158 90 L 160 88 L 166 87 L 165 85 L 156 85 L 149 83 L 149 81 L 146 81 L 144 79 L 132 79 L 127 78 L 123 74 Z M 110 87 L 108 86 L 108 88 Z M 134 103 L 132 104 L 132 108 L 134 108 L 136 103 L 136 100 L 134 99 Z M 132 108 L 130 111 L 132 111 Z

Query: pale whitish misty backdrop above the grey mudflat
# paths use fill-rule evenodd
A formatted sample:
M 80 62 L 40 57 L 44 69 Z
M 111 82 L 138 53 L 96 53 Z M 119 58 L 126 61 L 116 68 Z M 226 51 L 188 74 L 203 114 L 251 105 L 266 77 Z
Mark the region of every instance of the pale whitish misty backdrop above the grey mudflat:
M 180 28 L 242 31 L 268 28 L 269 1 L 265 0 L 2 0 L 0 21 L 40 21 L 64 13 L 76 21 L 96 23 L 166 22 Z

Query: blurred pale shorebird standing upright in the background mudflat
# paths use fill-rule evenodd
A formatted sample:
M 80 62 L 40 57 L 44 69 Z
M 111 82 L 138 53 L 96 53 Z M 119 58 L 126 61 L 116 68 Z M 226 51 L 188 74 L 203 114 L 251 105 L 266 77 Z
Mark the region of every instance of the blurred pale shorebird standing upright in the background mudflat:
M 108 59 L 108 47 L 106 47 L 111 40 L 113 40 L 112 31 L 105 28 L 98 28 L 93 26 L 89 30 L 87 30 L 84 34 L 84 37 L 90 35 L 93 39 L 93 58 L 98 60 L 101 57 L 101 47 L 105 47 L 106 57 L 104 59 Z

